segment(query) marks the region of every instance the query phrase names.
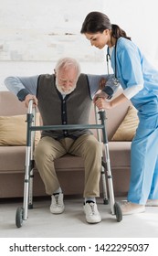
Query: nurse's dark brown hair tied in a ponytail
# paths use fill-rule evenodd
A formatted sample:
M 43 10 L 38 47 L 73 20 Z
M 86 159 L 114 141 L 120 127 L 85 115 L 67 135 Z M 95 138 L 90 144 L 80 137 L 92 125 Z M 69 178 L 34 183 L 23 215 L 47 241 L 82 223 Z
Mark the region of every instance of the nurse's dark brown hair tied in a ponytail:
M 119 37 L 125 37 L 131 40 L 131 37 L 127 37 L 126 32 L 121 29 L 118 25 L 111 24 L 111 21 L 108 16 L 100 12 L 90 12 L 88 16 L 86 16 L 80 33 L 102 33 L 105 29 L 111 29 L 111 36 L 118 39 Z

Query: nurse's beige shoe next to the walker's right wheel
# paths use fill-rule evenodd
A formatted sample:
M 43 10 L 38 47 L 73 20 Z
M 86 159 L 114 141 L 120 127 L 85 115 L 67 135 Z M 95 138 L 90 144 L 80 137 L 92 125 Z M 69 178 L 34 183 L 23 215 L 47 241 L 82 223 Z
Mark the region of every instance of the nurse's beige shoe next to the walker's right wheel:
M 121 205 L 122 215 L 136 214 L 144 211 L 145 207 L 143 205 L 134 204 L 132 202 L 125 202 Z

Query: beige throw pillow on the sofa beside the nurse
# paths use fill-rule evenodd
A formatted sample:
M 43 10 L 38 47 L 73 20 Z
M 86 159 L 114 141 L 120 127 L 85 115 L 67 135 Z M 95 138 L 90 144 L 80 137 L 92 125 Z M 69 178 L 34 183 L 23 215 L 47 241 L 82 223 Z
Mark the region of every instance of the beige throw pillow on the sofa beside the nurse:
M 133 136 L 135 135 L 139 119 L 137 116 L 137 110 L 130 106 L 128 111 L 121 122 L 119 128 L 114 133 L 112 141 L 132 141 Z

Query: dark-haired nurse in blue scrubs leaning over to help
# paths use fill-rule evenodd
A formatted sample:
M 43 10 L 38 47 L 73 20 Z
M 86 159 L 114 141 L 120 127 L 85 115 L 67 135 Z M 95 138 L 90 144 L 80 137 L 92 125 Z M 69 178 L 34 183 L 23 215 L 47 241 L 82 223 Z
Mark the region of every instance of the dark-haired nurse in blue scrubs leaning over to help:
M 81 34 L 91 46 L 107 46 L 116 84 L 123 92 L 107 101 L 104 90 L 94 98 L 99 109 L 118 107 L 131 100 L 138 110 L 139 125 L 132 140 L 131 180 L 127 202 L 121 204 L 122 215 L 141 213 L 145 206 L 158 207 L 158 70 L 154 69 L 131 37 L 108 16 L 90 12 Z

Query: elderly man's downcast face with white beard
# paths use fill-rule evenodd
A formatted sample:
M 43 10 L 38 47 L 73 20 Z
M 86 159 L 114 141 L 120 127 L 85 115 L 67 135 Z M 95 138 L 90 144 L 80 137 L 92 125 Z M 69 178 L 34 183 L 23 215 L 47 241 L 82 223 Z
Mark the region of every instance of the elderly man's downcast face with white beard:
M 69 94 L 76 88 L 77 71 L 73 67 L 58 70 L 56 86 L 61 94 Z

